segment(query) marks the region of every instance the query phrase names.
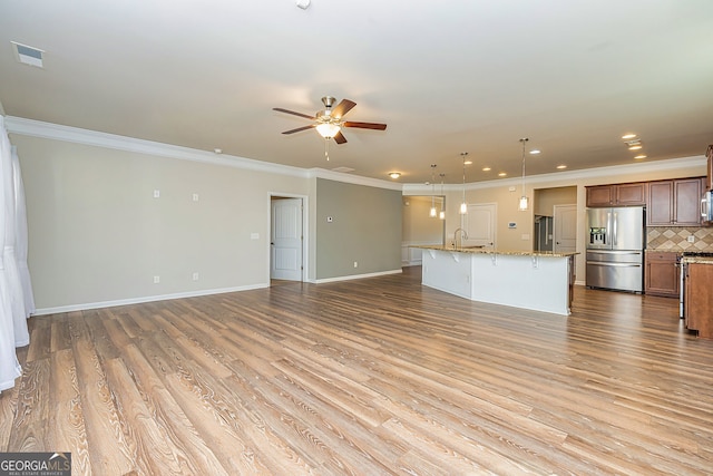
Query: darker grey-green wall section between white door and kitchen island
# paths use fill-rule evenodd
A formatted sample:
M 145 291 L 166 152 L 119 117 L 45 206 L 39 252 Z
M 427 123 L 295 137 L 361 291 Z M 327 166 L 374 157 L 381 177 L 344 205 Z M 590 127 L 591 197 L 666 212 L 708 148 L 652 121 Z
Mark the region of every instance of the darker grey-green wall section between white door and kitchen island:
M 400 271 L 401 207 L 400 191 L 318 178 L 316 280 Z

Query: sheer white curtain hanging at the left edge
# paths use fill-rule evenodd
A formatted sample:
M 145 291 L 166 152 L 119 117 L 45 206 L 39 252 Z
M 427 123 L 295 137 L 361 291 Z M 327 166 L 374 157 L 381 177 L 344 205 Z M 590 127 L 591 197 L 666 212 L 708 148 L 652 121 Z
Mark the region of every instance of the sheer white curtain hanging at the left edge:
M 0 116 L 0 391 L 14 386 L 14 379 L 22 372 L 14 351 L 16 347 L 27 346 L 30 337 L 27 318 L 30 309 L 26 307 L 25 292 L 18 265 L 16 206 L 19 201 L 14 186 L 12 167 L 12 147 L 4 127 L 4 117 Z M 19 168 L 18 168 L 19 173 Z M 25 198 L 20 207 L 25 211 Z M 27 255 L 27 218 L 25 218 L 23 239 Z M 29 276 L 29 272 L 28 272 Z M 33 307 L 33 304 L 32 304 Z

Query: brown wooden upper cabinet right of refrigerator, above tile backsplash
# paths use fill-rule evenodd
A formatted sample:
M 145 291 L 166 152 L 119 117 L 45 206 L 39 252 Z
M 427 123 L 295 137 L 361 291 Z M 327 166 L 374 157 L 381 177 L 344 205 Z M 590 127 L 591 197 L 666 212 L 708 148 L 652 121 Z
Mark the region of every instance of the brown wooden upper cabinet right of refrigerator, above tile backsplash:
M 648 183 L 646 224 L 701 226 L 701 195 L 705 181 L 677 178 Z

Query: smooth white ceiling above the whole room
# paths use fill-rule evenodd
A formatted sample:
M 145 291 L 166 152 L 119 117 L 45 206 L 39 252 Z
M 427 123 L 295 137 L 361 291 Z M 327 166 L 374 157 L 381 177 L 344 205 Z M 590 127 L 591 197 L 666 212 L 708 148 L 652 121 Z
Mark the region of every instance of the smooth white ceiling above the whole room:
M 19 64 L 11 41 L 46 51 Z M 307 119 L 352 99 L 344 145 Z M 713 143 L 711 0 L 0 0 L 9 116 L 399 182 L 700 156 Z M 485 173 L 485 165 L 492 172 Z

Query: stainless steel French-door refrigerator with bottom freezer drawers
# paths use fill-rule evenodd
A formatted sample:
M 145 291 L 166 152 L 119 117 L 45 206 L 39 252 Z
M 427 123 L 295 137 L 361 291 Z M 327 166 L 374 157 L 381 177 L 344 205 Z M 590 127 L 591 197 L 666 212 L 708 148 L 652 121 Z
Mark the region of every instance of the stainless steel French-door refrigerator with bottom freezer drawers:
M 587 208 L 587 286 L 644 291 L 644 207 Z

